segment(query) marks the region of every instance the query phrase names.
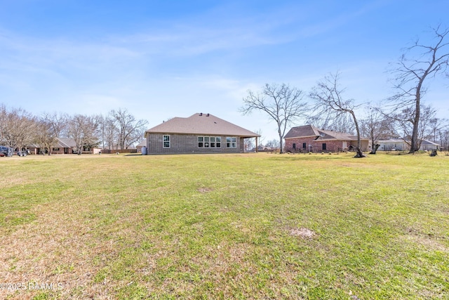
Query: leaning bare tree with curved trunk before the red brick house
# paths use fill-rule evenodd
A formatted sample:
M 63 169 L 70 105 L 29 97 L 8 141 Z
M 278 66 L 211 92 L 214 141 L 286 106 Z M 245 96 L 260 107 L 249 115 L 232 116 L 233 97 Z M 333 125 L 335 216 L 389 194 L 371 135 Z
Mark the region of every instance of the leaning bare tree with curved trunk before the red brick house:
M 361 150 L 361 138 L 356 113 L 354 110 L 358 107 L 354 99 L 345 100 L 342 98 L 344 89 L 340 89 L 338 80 L 340 73 L 329 74 L 319 81 L 310 93 L 310 98 L 315 100 L 315 115 L 328 115 L 330 119 L 337 119 L 342 115 L 349 114 L 354 122 L 357 133 L 357 148 L 355 157 L 365 157 Z

